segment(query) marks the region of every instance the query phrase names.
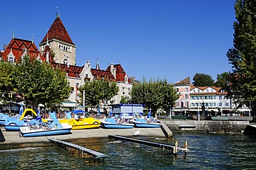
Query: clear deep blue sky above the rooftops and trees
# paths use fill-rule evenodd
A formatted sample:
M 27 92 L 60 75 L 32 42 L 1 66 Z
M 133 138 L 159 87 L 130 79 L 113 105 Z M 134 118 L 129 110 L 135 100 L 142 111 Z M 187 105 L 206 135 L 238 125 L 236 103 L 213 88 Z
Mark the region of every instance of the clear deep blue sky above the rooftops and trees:
M 56 9 L 77 46 L 77 65 L 97 57 L 100 69 L 120 63 L 137 80 L 176 83 L 196 73 L 228 72 L 235 0 L 3 0 L 0 49 L 15 37 L 39 43 Z

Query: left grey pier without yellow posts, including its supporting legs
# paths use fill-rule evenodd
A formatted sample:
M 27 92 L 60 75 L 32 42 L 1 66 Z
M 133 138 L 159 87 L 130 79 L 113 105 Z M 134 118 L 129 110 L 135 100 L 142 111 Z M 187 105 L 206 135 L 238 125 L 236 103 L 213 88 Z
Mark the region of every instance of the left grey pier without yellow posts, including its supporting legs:
M 67 149 L 68 147 L 71 149 L 76 149 L 79 153 L 79 156 L 82 156 L 82 154 L 86 153 L 89 154 L 90 156 L 93 156 L 93 160 L 95 162 L 95 159 L 98 159 L 98 162 L 100 162 L 100 158 L 104 158 L 107 157 L 107 155 L 100 153 L 98 151 L 94 151 L 92 149 L 88 149 L 86 147 L 82 147 L 80 145 L 75 145 L 71 142 L 65 142 L 63 140 L 57 140 L 57 139 L 49 139 L 51 142 L 54 142 L 55 145 L 59 146 L 59 147 L 63 147 L 64 149 Z

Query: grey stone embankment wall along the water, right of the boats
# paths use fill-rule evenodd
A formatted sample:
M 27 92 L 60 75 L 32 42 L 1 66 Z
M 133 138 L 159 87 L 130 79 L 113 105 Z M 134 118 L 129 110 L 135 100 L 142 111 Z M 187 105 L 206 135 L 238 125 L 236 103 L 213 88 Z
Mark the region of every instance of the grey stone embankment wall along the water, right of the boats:
M 219 134 L 241 134 L 249 121 L 171 120 L 163 119 L 171 131 L 194 131 Z

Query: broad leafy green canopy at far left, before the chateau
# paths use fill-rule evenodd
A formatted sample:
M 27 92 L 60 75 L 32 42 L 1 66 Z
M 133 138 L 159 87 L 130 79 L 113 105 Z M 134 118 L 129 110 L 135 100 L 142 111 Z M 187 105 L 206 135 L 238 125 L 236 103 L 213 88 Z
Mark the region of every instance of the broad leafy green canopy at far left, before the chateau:
M 48 63 L 30 59 L 29 56 L 24 56 L 24 59 L 16 64 L 1 61 L 0 67 L 0 82 L 8 81 L 0 87 L 1 92 L 23 94 L 26 105 L 31 105 L 33 109 L 40 103 L 60 104 L 71 93 L 65 72 L 53 69 Z M 3 74 L 3 67 L 8 67 L 8 74 Z

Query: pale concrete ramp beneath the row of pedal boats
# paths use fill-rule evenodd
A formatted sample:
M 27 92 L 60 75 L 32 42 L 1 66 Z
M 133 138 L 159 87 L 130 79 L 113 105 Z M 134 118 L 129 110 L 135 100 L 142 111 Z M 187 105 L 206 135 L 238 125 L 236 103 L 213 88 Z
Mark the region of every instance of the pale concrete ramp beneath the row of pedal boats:
M 0 142 L 0 149 L 2 147 L 35 147 L 40 145 L 47 145 L 51 142 L 50 138 L 56 138 L 59 140 L 73 140 L 79 138 L 95 138 L 95 137 L 108 137 L 109 135 L 120 135 L 120 136 L 133 136 L 138 128 L 133 129 L 80 129 L 71 130 L 71 134 L 57 135 L 57 136 L 42 136 L 42 137 L 20 137 L 19 131 L 4 131 L 1 127 L 3 137 L 6 141 Z M 1 134 L 0 134 L 1 135 Z M 158 136 L 165 137 L 161 128 L 140 128 L 139 136 Z

